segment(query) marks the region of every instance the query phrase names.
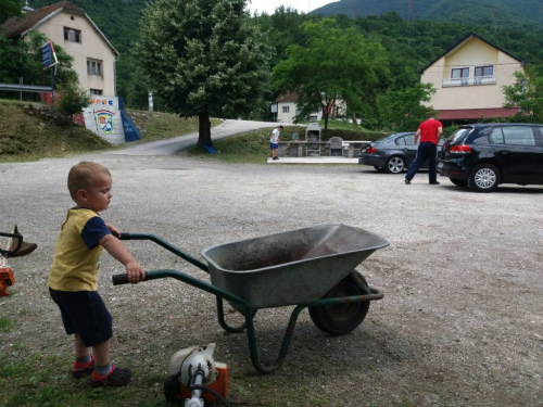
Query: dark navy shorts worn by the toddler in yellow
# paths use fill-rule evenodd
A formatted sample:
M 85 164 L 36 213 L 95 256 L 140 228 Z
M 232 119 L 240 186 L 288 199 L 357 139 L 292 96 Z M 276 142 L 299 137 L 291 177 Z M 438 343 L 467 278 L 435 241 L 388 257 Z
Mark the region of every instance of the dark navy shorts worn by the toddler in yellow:
M 79 334 L 85 346 L 99 345 L 113 336 L 111 314 L 96 291 L 58 291 L 49 288 L 61 310 L 64 330 Z

